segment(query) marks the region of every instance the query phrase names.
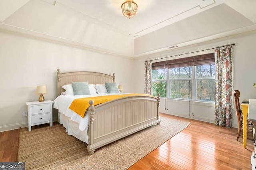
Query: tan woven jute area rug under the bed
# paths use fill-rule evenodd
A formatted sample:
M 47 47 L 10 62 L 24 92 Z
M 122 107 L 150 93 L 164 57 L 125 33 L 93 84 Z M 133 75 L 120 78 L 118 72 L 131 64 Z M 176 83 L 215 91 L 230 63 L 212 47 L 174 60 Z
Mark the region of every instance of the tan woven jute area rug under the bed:
M 160 117 L 154 125 L 112 142 L 88 155 L 87 144 L 66 133 L 61 124 L 44 125 L 28 132 L 20 129 L 18 161 L 29 169 L 125 170 L 190 125 Z

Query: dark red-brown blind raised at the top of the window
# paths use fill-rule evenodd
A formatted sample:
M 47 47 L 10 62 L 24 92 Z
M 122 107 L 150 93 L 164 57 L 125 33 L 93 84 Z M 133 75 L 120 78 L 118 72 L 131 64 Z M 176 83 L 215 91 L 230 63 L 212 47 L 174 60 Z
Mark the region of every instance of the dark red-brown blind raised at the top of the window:
M 196 55 L 192 57 L 172 59 L 167 61 L 160 61 L 152 63 L 152 69 L 164 69 L 164 68 L 175 68 L 175 67 L 187 67 L 190 65 L 204 65 L 214 64 L 214 53 Z

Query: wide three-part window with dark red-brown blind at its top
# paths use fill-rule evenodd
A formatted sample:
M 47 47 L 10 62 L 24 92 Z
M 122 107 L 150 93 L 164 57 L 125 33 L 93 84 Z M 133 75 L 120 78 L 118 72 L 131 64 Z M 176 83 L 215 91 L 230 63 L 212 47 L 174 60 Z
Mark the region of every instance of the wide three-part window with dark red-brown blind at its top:
M 160 97 L 214 101 L 214 53 L 152 63 L 152 87 Z

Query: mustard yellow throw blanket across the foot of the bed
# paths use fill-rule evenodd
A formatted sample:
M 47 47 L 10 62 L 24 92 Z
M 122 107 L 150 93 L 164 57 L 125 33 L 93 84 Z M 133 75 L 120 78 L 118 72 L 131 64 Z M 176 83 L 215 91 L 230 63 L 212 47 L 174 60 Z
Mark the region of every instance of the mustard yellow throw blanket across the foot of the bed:
M 90 100 L 93 100 L 94 101 L 94 106 L 96 106 L 96 105 L 99 105 L 101 103 L 105 103 L 107 101 L 111 101 L 111 100 L 114 100 L 114 99 L 127 97 L 127 96 L 136 96 L 136 95 L 152 96 L 152 95 L 147 95 L 147 94 L 142 94 L 142 93 L 130 93 L 130 94 L 124 94 L 124 95 L 107 95 L 107 96 L 97 96 L 97 97 L 85 97 L 85 98 L 80 98 L 80 99 L 74 99 L 74 101 L 72 101 L 69 109 L 76 112 L 81 117 L 84 117 L 87 109 L 90 106 L 90 104 L 89 104 Z

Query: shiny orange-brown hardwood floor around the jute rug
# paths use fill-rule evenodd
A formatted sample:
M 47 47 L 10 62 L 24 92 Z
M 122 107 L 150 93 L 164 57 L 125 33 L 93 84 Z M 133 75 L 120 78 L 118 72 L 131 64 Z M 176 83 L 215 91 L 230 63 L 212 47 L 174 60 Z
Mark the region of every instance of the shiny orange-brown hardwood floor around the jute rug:
M 237 128 L 218 127 L 212 123 L 166 114 L 161 116 L 189 121 L 191 124 L 129 170 L 252 169 L 252 132 L 248 132 L 247 146 L 244 148 L 242 136 L 236 141 Z M 19 129 L 0 132 L 0 162 L 18 161 L 18 138 Z

